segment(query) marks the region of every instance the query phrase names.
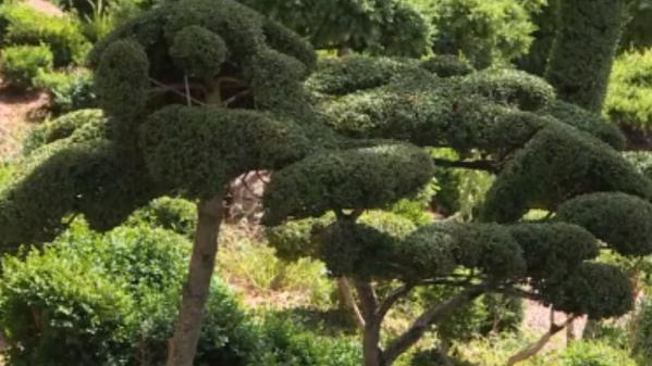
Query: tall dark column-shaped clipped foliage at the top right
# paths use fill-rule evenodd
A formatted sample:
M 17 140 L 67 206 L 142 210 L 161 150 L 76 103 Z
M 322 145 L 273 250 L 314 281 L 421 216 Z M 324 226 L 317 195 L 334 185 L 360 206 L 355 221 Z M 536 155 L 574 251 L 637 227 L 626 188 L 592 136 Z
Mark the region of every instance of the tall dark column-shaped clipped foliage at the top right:
M 600 112 L 623 26 L 625 0 L 561 0 L 545 78 L 559 98 Z

